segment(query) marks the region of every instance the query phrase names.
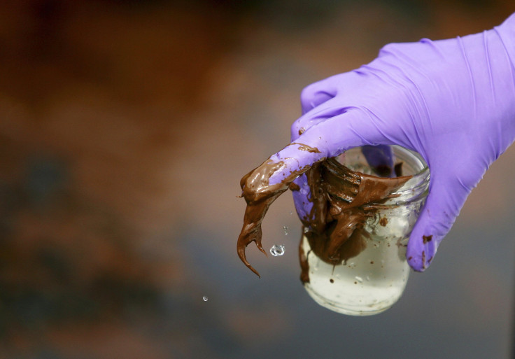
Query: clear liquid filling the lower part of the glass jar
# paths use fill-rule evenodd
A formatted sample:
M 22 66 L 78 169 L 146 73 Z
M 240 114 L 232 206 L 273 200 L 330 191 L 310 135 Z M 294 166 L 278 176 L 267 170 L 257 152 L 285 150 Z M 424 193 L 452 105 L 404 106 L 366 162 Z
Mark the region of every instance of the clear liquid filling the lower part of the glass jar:
M 399 238 L 371 234 L 367 248 L 340 265 L 320 260 L 306 237 L 301 245 L 309 264 L 309 283 L 304 287 L 313 300 L 327 309 L 353 316 L 379 314 L 404 292 L 409 266 Z

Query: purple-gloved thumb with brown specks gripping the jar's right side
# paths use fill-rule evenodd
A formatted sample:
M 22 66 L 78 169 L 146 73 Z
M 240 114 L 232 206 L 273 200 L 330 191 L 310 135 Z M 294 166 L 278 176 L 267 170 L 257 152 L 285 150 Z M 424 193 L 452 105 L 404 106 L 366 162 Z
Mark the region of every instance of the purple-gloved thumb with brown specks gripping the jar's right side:
M 469 192 L 463 185 L 450 185 L 445 177 L 431 174 L 428 198 L 409 236 L 406 256 L 411 268 L 424 272 L 429 267 Z

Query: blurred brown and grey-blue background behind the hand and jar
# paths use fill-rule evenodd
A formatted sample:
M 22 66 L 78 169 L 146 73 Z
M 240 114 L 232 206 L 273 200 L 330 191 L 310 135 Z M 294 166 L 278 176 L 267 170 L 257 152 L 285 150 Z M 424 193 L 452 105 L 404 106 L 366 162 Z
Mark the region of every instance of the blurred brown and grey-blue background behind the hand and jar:
M 511 358 L 515 148 L 400 302 L 354 318 L 299 281 L 289 195 L 239 261 L 239 179 L 309 83 L 512 0 L 4 0 L 0 359 Z M 456 158 L 459 161 L 459 158 Z

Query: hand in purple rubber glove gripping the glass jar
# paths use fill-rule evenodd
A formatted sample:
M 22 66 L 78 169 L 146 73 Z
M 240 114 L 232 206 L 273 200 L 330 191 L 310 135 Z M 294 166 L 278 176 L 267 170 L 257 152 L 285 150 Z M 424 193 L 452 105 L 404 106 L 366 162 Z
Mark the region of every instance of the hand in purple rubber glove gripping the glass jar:
M 284 178 L 356 146 L 420 153 L 430 188 L 407 258 L 423 271 L 472 188 L 515 139 L 514 65 L 515 14 L 480 34 L 386 45 L 371 63 L 304 89 L 303 115 L 292 125 L 292 143 L 269 158 L 283 165 L 268 183 L 287 185 Z M 309 216 L 305 174 L 294 182 L 297 213 Z

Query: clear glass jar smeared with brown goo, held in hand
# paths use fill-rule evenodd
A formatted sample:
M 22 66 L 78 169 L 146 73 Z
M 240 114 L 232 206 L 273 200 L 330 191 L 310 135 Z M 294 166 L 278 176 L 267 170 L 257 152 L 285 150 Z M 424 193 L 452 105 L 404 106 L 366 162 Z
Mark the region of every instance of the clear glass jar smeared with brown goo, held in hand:
M 353 316 L 379 314 L 402 295 L 409 276 L 407 241 L 428 192 L 429 169 L 411 150 L 392 146 L 396 169 L 412 176 L 377 206 L 362 225 L 364 249 L 338 264 L 320 259 L 306 235 L 299 247 L 309 280 L 304 288 L 318 304 Z M 347 150 L 337 160 L 345 167 L 376 176 L 361 148 Z M 401 165 L 402 164 L 402 165 Z M 304 257 L 303 257 L 304 256 Z

